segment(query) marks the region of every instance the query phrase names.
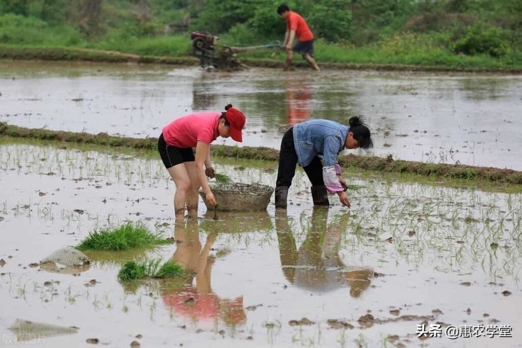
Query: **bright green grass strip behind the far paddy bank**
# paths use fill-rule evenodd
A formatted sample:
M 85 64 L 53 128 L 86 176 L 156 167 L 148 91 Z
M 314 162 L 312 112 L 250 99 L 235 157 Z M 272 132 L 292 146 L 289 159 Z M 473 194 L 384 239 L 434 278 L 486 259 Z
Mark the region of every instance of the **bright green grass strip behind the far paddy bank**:
M 223 44 L 238 46 L 273 43 L 273 40 L 268 40 L 240 44 L 237 40 L 239 39 L 226 35 L 220 38 L 220 42 Z M 323 66 L 327 64 L 348 67 L 352 65 L 353 67 L 415 65 L 443 69 L 489 70 L 522 68 L 522 52 L 517 49 L 510 49 L 507 54 L 497 58 L 488 54 L 456 54 L 452 50 L 452 44 L 453 42 L 444 37 L 443 33 L 401 33 L 362 47 L 355 47 L 349 43 L 329 43 L 318 39 L 314 44 L 314 49 L 317 62 Z M 62 51 L 48 52 L 44 49 Z M 0 16 L 0 57 L 7 59 L 78 60 L 82 57 L 92 61 L 120 61 L 123 59 L 110 56 L 104 51 L 134 53 L 149 58 L 187 59 L 187 53 L 190 50 L 189 33 L 136 37 L 122 32 L 121 29 L 114 29 L 102 37 L 88 40 L 78 29 L 65 25 L 51 27 L 46 22 L 34 18 L 27 19 L 15 15 Z M 238 54 L 238 58 L 247 63 L 250 61 L 254 65 L 267 66 L 273 66 L 274 63 L 279 66 L 278 62 L 282 63 L 286 56 L 285 52 L 277 49 L 261 49 Z M 304 63 L 301 55 L 295 55 L 294 63 Z

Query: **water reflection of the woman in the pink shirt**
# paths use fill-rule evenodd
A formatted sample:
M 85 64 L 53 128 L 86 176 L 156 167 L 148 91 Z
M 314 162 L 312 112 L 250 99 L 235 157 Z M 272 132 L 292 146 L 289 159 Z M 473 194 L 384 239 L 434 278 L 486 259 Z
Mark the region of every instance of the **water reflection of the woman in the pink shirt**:
M 192 276 L 185 286 L 164 291 L 164 303 L 177 315 L 197 322 L 199 327 L 215 321 L 228 326 L 241 325 L 245 321 L 243 296 L 234 299 L 220 298 L 212 292 L 210 285 L 212 265 L 216 260 L 215 256 L 210 255 L 210 250 L 217 233 L 208 234 L 202 245 L 198 227 L 197 219 L 188 219 L 186 226 L 184 222 L 177 222 L 174 227 L 177 248 L 172 260 Z

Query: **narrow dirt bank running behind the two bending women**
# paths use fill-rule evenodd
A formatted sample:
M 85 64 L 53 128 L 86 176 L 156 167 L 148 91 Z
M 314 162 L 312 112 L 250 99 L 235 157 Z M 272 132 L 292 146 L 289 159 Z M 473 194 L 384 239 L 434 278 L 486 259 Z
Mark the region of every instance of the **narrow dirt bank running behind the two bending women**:
M 38 140 L 53 140 L 81 144 L 106 145 L 136 149 L 155 149 L 157 138 L 131 138 L 110 136 L 106 133 L 89 134 L 45 129 L 30 129 L 0 122 L 0 135 Z M 279 151 L 268 147 L 212 145 L 214 156 L 277 161 Z M 354 167 L 379 172 L 411 173 L 436 178 L 485 180 L 508 184 L 522 184 L 522 171 L 467 165 L 433 164 L 417 161 L 394 160 L 376 156 L 346 155 L 339 157 L 342 167 Z

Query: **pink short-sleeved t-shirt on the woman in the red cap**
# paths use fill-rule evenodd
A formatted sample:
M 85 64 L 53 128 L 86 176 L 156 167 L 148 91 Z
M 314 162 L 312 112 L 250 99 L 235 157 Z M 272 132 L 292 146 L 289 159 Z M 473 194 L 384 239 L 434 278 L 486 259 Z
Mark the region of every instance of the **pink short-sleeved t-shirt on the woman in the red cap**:
M 196 147 L 198 141 L 210 144 L 218 137 L 221 112 L 199 112 L 186 115 L 163 127 L 165 142 L 176 147 Z

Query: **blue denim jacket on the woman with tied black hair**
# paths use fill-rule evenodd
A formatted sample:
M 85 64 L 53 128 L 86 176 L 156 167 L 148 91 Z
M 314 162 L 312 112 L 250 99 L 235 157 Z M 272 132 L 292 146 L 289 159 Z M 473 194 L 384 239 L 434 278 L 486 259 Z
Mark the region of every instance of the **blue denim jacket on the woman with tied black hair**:
M 345 148 L 350 128 L 329 120 L 312 120 L 293 127 L 298 164 L 306 167 L 317 155 L 323 155 L 324 167 L 334 166 L 337 155 Z

